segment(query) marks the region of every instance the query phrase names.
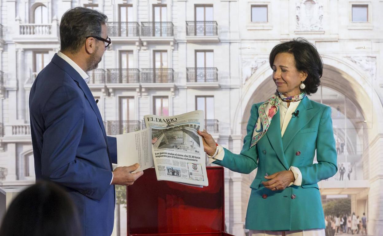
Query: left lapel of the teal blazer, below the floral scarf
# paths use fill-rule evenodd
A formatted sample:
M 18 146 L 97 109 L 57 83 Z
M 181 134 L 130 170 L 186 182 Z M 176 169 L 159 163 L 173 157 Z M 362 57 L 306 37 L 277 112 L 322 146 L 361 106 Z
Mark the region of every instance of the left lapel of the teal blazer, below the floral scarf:
M 277 154 L 280 162 L 283 164 L 283 166 L 285 166 L 286 170 L 289 169 L 290 167 L 288 166 L 285 158 L 285 153 L 283 152 L 279 109 L 278 112 L 274 115 L 270 126 L 268 127 L 266 136 L 270 141 L 271 146 Z

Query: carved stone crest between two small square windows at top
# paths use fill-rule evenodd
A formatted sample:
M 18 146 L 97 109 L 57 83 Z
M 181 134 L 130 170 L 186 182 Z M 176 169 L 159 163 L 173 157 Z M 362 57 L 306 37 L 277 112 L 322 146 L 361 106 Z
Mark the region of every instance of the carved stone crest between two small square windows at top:
M 323 30 L 323 5 L 314 0 L 296 3 L 296 29 L 298 31 Z

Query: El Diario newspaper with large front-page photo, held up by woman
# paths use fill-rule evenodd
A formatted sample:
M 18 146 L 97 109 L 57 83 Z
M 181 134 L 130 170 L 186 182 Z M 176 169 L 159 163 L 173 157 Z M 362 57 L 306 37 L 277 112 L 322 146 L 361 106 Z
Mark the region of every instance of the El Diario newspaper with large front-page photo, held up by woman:
M 197 130 L 204 129 L 203 111 L 178 116 L 144 116 L 146 127 L 152 128 L 152 155 L 157 180 L 208 186 L 205 152 Z

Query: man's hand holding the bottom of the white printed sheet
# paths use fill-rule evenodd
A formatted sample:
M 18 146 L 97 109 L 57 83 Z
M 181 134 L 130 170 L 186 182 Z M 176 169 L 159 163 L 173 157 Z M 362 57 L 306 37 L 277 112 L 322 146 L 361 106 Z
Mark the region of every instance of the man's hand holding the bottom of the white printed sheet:
M 135 171 L 139 167 L 139 164 L 136 163 L 132 166 L 120 166 L 113 171 L 113 181 L 111 184 L 118 184 L 129 186 L 134 183 L 142 174 L 143 171 L 132 174 L 131 172 Z

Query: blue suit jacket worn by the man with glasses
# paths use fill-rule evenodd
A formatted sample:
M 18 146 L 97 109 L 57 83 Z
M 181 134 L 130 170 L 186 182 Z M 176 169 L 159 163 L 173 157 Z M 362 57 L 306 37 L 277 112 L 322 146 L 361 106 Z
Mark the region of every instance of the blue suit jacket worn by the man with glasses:
M 106 136 L 88 85 L 56 54 L 32 85 L 29 111 L 36 179 L 49 179 L 67 189 L 83 235 L 110 235 L 116 139 Z

